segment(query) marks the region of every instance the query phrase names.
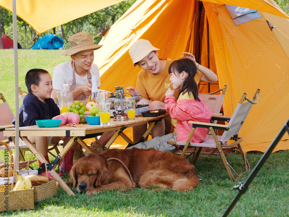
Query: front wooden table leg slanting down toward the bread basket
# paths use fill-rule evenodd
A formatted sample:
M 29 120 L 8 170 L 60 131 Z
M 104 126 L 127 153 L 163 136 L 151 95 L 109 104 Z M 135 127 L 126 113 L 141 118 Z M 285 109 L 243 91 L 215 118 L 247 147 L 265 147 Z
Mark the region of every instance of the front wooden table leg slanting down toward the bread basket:
M 21 137 L 22 140 L 25 142 L 25 144 L 28 146 L 28 148 L 32 151 L 32 153 L 39 153 L 38 150 L 33 146 L 33 144 L 29 141 L 29 139 L 25 138 L 25 137 Z M 73 140 L 72 140 L 73 141 Z M 69 146 L 68 144 L 66 146 Z M 65 148 L 66 148 L 65 146 Z M 68 147 L 69 149 L 69 147 Z M 66 150 L 67 152 L 67 150 Z M 65 152 L 65 153 L 66 153 Z M 48 163 L 41 155 L 36 154 L 36 157 L 41 161 L 41 162 L 46 162 Z M 75 196 L 75 194 L 71 191 L 71 189 L 65 184 L 65 182 L 60 178 L 60 176 L 57 174 L 57 172 L 55 172 L 54 168 L 52 170 L 49 171 L 51 173 L 51 175 L 56 179 L 56 181 L 58 181 L 59 185 L 64 189 L 64 191 L 66 191 L 66 193 L 68 195 L 73 195 Z

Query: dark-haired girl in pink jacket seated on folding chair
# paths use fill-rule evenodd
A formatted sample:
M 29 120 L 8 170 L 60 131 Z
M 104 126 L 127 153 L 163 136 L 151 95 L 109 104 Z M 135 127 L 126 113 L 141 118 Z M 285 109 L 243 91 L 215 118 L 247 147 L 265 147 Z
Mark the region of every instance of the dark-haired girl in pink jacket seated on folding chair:
M 159 151 L 175 152 L 177 149 L 168 145 L 167 141 L 186 142 L 192 129 L 192 124 L 189 124 L 189 121 L 210 122 L 212 111 L 199 97 L 199 88 L 194 80 L 194 76 L 197 73 L 197 67 L 194 62 L 190 59 L 174 60 L 168 67 L 168 73 L 171 76 L 170 81 L 173 90 L 168 88 L 164 103 L 172 118 L 173 133 L 149 139 L 130 148 L 155 148 Z M 177 102 L 175 102 L 173 95 L 177 89 L 180 89 L 180 91 Z M 207 129 L 196 128 L 191 142 L 200 143 L 205 141 L 206 134 Z

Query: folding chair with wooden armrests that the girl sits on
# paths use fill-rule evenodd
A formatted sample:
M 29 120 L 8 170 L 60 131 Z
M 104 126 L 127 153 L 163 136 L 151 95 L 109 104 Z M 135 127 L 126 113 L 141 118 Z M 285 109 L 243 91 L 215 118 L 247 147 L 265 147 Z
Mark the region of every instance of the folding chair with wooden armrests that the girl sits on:
M 202 150 L 202 147 L 208 147 L 208 148 L 217 148 L 219 150 L 219 153 L 223 159 L 223 162 L 225 164 L 225 167 L 227 169 L 227 172 L 231 178 L 231 180 L 236 181 L 240 175 L 238 175 L 235 170 L 229 165 L 229 163 L 226 160 L 226 157 L 223 153 L 223 149 L 231 148 L 233 146 L 238 146 L 240 154 L 242 155 L 242 158 L 246 165 L 246 170 L 250 170 L 249 163 L 246 159 L 246 156 L 242 150 L 242 147 L 240 145 L 240 142 L 243 140 L 242 138 L 238 137 L 238 133 L 240 131 L 240 128 L 242 127 L 251 107 L 253 104 L 257 104 L 259 100 L 259 92 L 260 89 L 257 89 L 254 97 L 252 100 L 248 99 L 246 97 L 246 93 L 242 95 L 242 98 L 240 102 L 238 103 L 233 115 L 231 117 L 229 116 L 221 116 L 221 115 L 214 115 L 211 119 L 211 122 L 214 122 L 215 120 L 223 120 L 227 121 L 227 125 L 222 124 L 213 124 L 213 123 L 203 123 L 203 122 L 194 122 L 189 121 L 189 123 L 192 124 L 192 130 L 190 132 L 190 135 L 186 142 L 174 142 L 174 141 L 168 141 L 168 144 L 175 145 L 176 147 L 183 146 L 183 152 L 181 154 L 181 157 L 184 157 L 185 152 L 188 147 L 199 147 L 197 152 L 193 152 L 192 155 L 192 163 L 195 164 L 197 161 L 197 158 L 199 157 L 199 154 Z M 247 100 L 248 102 L 244 102 Z M 191 138 L 194 134 L 194 130 L 197 127 L 207 128 L 210 129 L 210 132 L 212 135 L 207 135 L 206 139 L 202 143 L 192 143 Z M 224 133 L 222 136 L 217 136 L 214 130 L 224 130 Z M 227 145 L 227 141 L 233 140 L 234 142 L 230 145 Z M 234 178 L 231 170 L 238 176 L 236 179 Z

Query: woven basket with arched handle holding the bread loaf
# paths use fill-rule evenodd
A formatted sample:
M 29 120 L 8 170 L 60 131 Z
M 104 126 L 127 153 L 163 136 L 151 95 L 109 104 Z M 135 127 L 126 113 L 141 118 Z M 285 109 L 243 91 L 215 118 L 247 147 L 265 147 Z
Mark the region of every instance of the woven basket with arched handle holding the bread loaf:
M 41 155 L 40 153 L 34 153 L 33 155 L 35 155 L 35 154 Z M 29 164 L 29 160 L 33 155 L 31 155 L 29 157 L 27 164 Z M 41 155 L 41 156 L 43 157 L 43 155 Z M 43 157 L 43 159 L 44 159 L 44 157 Z M 46 162 L 44 162 L 44 163 L 45 163 L 46 176 L 48 178 L 47 165 L 46 165 Z M 27 172 L 29 175 L 29 170 Z M 56 179 L 50 179 L 49 178 L 47 183 L 44 183 L 44 184 L 38 185 L 38 186 L 32 186 L 32 187 L 34 187 L 34 202 L 42 201 L 45 198 L 49 198 L 49 197 L 52 197 L 52 196 L 57 194 Z

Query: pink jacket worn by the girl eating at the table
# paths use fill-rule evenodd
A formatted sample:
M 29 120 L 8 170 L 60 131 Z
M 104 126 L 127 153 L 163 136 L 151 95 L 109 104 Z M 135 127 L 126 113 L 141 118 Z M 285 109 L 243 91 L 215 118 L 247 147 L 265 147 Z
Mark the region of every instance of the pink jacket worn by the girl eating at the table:
M 176 103 L 173 95 L 167 95 L 164 99 L 166 110 L 170 112 L 171 118 L 177 120 L 177 141 L 187 141 L 192 130 L 192 124 L 189 124 L 189 121 L 210 123 L 212 111 L 200 96 L 199 98 L 201 102 L 198 100 L 179 100 Z M 191 142 L 201 143 L 205 141 L 206 135 L 206 128 L 197 127 Z

